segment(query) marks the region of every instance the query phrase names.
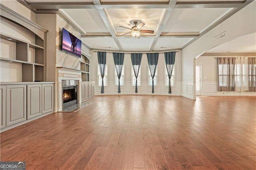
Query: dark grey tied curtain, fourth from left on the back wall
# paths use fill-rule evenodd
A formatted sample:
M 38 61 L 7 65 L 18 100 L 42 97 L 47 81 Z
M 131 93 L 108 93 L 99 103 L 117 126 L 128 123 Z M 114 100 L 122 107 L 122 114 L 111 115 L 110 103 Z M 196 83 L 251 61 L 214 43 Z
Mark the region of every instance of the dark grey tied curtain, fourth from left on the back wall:
M 152 93 L 154 93 L 154 77 L 156 74 L 156 67 L 158 64 L 159 53 L 147 53 L 148 66 L 152 77 Z

